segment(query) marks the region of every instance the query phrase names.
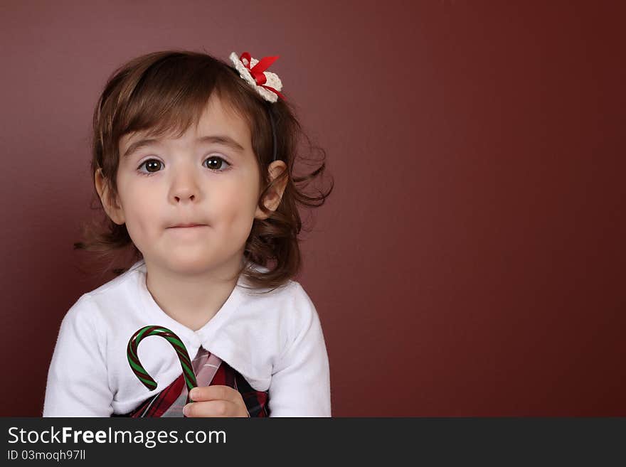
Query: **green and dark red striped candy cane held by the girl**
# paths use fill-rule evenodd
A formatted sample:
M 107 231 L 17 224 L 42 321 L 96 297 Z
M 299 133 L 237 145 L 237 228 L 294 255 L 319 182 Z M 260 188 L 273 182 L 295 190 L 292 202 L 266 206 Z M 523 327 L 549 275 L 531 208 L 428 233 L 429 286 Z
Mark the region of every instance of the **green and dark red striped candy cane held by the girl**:
M 141 381 L 144 386 L 148 388 L 148 390 L 154 390 L 157 388 L 157 382 L 154 381 L 150 375 L 148 375 L 148 372 L 144 369 L 142 364 L 139 363 L 139 357 L 137 356 L 137 346 L 143 338 L 149 336 L 161 336 L 162 338 L 165 338 L 172 347 L 174 347 L 174 350 L 176 350 L 176 353 L 179 355 L 181 367 L 183 368 L 183 375 L 185 376 L 185 382 L 187 384 L 187 402 L 193 402 L 189 397 L 189 392 L 198 385 L 198 382 L 196 382 L 196 375 L 193 374 L 193 367 L 191 366 L 189 353 L 187 353 L 187 349 L 179 336 L 176 336 L 176 334 L 163 326 L 145 326 L 134 333 L 132 338 L 128 341 L 126 355 L 134 375 L 137 376 L 139 381 Z

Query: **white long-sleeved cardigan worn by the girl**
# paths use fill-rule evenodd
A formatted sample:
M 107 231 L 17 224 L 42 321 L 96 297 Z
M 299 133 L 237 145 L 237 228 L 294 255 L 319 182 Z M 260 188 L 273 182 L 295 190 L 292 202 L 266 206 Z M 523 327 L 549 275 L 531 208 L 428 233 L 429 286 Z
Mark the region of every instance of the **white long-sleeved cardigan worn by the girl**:
M 147 390 L 129 366 L 129 339 L 152 325 L 174 331 L 192 359 L 202 346 L 255 390 L 268 390 L 270 417 L 330 417 L 328 355 L 311 299 L 296 281 L 268 294 L 244 285 L 249 286 L 241 276 L 216 315 L 198 331 L 175 321 L 154 301 L 143 260 L 83 294 L 60 326 L 43 417 L 126 414 L 174 382 L 181 365 L 174 348 L 159 336 L 144 338 L 137 350 L 157 388 Z

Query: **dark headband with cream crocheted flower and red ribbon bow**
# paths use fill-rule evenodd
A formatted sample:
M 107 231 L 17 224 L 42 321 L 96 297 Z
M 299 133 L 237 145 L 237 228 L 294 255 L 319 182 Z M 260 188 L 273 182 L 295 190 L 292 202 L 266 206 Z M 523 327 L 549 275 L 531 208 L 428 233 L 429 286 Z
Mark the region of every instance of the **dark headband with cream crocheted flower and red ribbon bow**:
M 272 112 L 272 103 L 277 102 L 278 97 L 285 100 L 285 96 L 280 93 L 282 90 L 282 82 L 276 73 L 265 71 L 270 65 L 278 59 L 275 57 L 263 57 L 256 60 L 250 56 L 250 53 L 244 52 L 241 56 L 235 52 L 230 54 L 230 61 L 235 65 L 235 70 L 239 72 L 240 77 L 253 87 L 261 97 L 266 101 L 265 108 L 270 117 L 270 125 L 272 127 L 272 143 L 273 156 L 272 161 L 277 160 L 277 143 L 276 143 L 276 124 Z

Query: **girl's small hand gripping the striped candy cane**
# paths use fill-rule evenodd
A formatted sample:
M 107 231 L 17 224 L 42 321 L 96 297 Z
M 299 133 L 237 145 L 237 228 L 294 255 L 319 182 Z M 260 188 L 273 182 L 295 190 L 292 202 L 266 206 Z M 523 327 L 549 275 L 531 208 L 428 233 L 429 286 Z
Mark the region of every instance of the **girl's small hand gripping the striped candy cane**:
M 185 417 L 250 417 L 240 392 L 229 386 L 194 387 L 189 397 Z

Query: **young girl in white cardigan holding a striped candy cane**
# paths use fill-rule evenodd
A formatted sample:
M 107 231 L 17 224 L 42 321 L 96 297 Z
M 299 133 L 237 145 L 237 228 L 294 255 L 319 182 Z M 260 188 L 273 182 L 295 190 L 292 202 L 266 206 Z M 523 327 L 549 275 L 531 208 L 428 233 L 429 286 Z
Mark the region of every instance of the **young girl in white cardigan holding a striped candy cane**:
M 277 57 L 151 53 L 110 77 L 93 119 L 92 176 L 105 230 L 77 248 L 130 247 L 136 262 L 70 308 L 44 417 L 330 417 L 319 316 L 302 286 L 297 203 L 324 171 L 294 175 L 302 130 L 267 68 Z M 323 152 L 323 151 L 322 151 Z M 178 336 L 198 386 L 159 336 Z M 136 369 L 136 368 L 135 368 Z M 186 403 L 189 400 L 192 402 Z

